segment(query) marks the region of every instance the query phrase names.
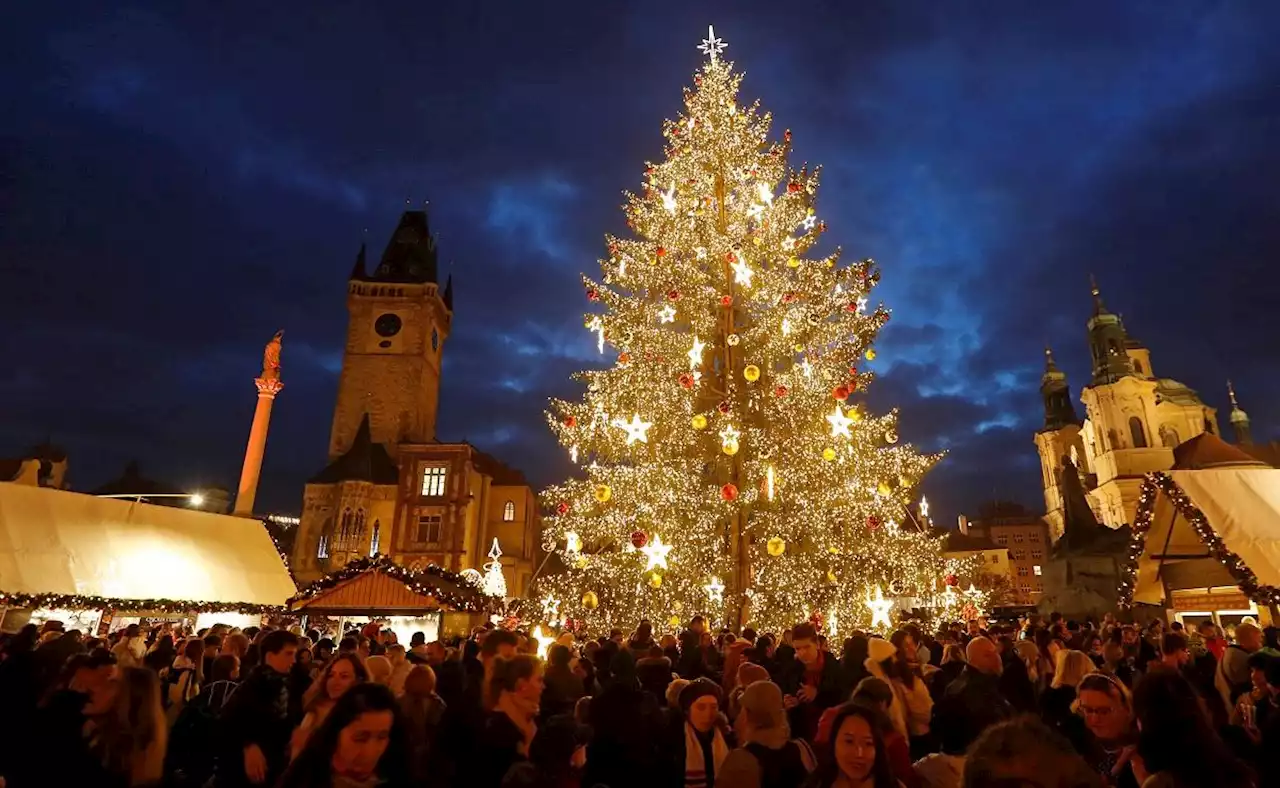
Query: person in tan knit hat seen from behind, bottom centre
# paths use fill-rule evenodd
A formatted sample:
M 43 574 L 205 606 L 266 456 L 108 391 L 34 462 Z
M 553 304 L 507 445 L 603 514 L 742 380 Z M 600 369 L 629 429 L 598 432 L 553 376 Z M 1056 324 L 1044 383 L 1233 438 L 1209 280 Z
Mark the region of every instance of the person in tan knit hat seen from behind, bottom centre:
M 818 760 L 804 739 L 791 738 L 782 690 L 771 681 L 753 682 L 742 691 L 742 707 L 733 720 L 739 748 L 728 753 L 717 778 L 722 785 L 760 788 L 799 785 Z

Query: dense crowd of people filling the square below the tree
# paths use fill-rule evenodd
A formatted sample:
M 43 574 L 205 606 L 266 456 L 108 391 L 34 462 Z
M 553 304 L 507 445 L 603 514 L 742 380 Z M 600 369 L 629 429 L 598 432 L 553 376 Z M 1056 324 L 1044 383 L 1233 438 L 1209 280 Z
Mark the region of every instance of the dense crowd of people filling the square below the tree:
M 0 787 L 1266 788 L 1276 631 L 1029 617 L 540 643 L 163 624 L 0 643 Z

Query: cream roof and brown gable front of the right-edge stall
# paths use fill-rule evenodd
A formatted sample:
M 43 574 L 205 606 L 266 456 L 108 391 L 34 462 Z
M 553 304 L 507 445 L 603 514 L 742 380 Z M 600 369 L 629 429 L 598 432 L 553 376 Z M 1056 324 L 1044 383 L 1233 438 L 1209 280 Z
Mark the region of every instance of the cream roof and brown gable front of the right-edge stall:
M 1166 489 L 1170 482 L 1172 495 Z M 1155 499 L 1147 507 L 1151 524 L 1138 556 L 1133 601 L 1162 604 L 1165 582 L 1174 588 L 1239 585 L 1238 573 L 1224 565 L 1224 549 L 1257 577 L 1258 586 L 1280 587 L 1280 469 L 1170 471 L 1147 485 Z M 1203 533 L 1193 522 L 1197 510 L 1208 528 Z M 1142 517 L 1139 509 L 1139 524 Z

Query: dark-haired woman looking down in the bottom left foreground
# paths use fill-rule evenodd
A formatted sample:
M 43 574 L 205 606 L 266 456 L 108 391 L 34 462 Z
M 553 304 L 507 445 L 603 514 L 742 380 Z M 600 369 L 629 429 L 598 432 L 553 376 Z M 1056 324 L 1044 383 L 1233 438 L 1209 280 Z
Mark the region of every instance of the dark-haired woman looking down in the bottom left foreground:
M 396 696 L 356 684 L 338 698 L 289 764 L 280 788 L 402 788 L 410 784 Z

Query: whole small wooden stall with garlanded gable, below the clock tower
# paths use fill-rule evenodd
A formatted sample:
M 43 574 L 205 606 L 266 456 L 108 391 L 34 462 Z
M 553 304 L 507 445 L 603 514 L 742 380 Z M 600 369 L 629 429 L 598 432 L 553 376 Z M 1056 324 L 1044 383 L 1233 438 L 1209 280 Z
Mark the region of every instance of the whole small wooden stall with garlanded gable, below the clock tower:
M 404 636 L 422 632 L 428 642 L 466 633 L 500 600 L 485 596 L 475 578 L 436 565 L 410 569 L 385 555 L 357 559 L 321 577 L 289 600 L 294 615 L 378 622 Z

